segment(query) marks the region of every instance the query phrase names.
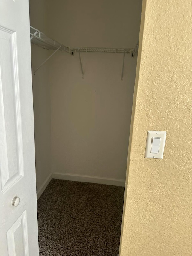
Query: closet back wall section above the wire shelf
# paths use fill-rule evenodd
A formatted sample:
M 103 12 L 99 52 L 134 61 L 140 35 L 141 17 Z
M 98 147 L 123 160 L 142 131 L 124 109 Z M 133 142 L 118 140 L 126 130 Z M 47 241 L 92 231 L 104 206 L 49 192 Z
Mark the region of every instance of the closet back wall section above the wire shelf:
M 66 46 L 135 47 L 142 0 L 47 0 L 48 34 Z

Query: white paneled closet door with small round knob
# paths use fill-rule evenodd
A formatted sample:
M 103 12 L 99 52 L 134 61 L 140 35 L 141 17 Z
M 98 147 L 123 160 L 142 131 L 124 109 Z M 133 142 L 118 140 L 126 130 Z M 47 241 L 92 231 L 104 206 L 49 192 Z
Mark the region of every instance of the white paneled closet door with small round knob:
M 29 33 L 29 1 L 0 0 L 1 256 L 39 255 Z

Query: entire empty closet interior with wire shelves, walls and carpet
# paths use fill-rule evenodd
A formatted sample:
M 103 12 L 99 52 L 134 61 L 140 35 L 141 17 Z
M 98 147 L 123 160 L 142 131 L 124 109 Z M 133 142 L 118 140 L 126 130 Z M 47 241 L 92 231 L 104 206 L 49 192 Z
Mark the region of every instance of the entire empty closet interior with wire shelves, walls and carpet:
M 142 0 L 30 0 L 40 256 L 118 256 Z

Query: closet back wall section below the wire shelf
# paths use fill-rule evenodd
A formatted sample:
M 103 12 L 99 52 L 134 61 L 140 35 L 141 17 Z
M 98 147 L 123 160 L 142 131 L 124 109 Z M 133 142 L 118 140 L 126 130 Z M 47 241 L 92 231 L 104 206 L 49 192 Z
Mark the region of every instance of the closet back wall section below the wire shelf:
M 125 56 L 123 81 L 122 55 L 84 53 L 82 63 L 83 80 L 78 54 L 51 62 L 52 172 L 125 180 L 137 57 Z

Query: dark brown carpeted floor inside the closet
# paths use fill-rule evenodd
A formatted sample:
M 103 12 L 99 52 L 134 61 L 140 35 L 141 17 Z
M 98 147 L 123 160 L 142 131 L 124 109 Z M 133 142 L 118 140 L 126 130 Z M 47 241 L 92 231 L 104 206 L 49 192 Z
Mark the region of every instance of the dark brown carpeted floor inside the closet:
M 38 200 L 40 256 L 118 256 L 124 188 L 52 179 Z

